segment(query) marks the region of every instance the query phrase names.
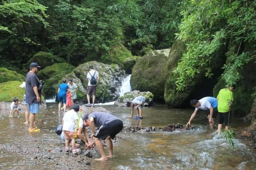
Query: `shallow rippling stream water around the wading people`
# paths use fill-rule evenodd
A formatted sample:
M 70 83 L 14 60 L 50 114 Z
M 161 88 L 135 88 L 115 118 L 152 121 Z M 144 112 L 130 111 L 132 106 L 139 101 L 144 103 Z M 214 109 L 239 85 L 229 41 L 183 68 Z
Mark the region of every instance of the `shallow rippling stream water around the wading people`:
M 142 120 L 129 119 L 130 109 L 125 107 L 104 106 L 122 119 L 124 126 L 166 126 L 172 123 L 183 125 L 189 120 L 192 109 L 166 109 L 165 105 L 143 108 Z M 41 148 L 62 148 L 64 143 L 55 133 L 55 127 L 61 123 L 62 115 L 57 113 L 57 105 L 48 108 L 36 118 L 40 133 L 29 133 L 21 118 L 0 119 L 0 145 L 19 141 L 26 145 L 33 142 Z M 7 111 L 8 112 L 8 111 Z M 0 110 L 0 114 L 6 111 Z M 8 114 L 8 113 L 7 113 Z M 235 139 L 232 148 L 224 139 L 216 139 L 215 131 L 207 126 L 207 113 L 198 113 L 192 121 L 198 130 L 155 132 L 155 133 L 119 133 L 122 141 L 113 144 L 114 158 L 105 162 L 91 161 L 93 170 L 255 170 L 255 151 L 250 150 L 246 140 Z M 233 117 L 236 131 L 247 126 L 240 118 Z M 33 165 L 33 161 L 17 157 L 15 153 L 2 150 L 0 169 L 52 169 L 51 163 Z M 93 153 L 93 158 L 99 157 Z M 26 166 L 24 165 L 26 163 Z M 29 166 L 30 164 L 30 166 Z

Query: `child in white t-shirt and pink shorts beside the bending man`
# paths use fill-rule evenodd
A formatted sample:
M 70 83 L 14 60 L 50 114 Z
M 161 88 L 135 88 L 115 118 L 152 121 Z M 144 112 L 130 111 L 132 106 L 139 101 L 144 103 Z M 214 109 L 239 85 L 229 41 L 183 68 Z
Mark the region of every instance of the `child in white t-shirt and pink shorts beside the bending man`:
M 72 153 L 79 153 L 80 149 L 76 149 L 76 139 L 73 138 L 73 134 L 76 130 L 76 124 L 78 121 L 78 114 L 79 111 L 79 105 L 73 104 L 70 107 L 70 111 L 67 111 L 64 114 L 64 117 L 62 119 L 62 130 L 65 136 L 65 151 L 71 151 L 69 148 L 69 143 L 71 139 L 71 145 L 72 145 Z

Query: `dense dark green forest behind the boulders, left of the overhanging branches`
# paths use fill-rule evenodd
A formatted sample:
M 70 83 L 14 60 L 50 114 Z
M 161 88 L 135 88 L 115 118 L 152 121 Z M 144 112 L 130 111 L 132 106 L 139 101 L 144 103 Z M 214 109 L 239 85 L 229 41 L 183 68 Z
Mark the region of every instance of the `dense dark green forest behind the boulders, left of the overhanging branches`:
M 116 44 L 132 54 L 169 48 L 180 0 L 6 0 L 0 3 L 0 67 L 20 70 L 38 51 L 73 65 L 103 61 Z

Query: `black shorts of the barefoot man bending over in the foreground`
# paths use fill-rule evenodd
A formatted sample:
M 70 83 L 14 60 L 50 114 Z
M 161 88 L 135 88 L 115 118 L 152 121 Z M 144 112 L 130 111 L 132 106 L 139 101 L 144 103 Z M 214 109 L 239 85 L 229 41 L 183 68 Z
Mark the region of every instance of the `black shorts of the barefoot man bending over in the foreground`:
M 122 120 L 113 120 L 112 122 L 109 122 L 108 124 L 99 127 L 99 130 L 96 131 L 93 137 L 105 140 L 108 136 L 110 136 L 111 139 L 114 139 L 116 134 L 119 133 L 122 128 Z

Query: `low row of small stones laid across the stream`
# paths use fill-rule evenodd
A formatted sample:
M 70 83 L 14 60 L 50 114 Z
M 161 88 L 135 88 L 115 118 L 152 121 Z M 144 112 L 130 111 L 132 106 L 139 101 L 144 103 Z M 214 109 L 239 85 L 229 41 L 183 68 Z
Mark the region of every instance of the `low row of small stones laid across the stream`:
M 150 127 L 123 127 L 122 132 L 124 133 L 136 133 L 136 132 L 140 132 L 140 133 L 145 133 L 145 132 L 173 132 L 173 131 L 185 131 L 185 130 L 195 130 L 197 129 L 198 126 L 190 126 L 187 127 L 185 125 L 182 125 L 180 123 L 177 124 L 169 124 L 167 126 L 164 127 L 155 127 L 155 126 L 150 126 Z

